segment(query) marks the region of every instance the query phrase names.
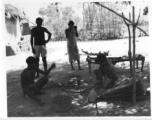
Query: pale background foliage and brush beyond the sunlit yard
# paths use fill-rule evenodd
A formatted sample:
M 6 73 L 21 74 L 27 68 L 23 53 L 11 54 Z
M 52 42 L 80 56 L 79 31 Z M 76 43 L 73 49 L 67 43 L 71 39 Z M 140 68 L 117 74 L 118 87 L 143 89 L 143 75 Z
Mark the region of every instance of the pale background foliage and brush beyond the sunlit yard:
M 79 3 L 83 8 L 83 18 L 76 14 L 76 10 L 70 6 L 61 7 L 62 3 L 51 3 L 46 8 L 41 8 L 39 13 L 44 19 L 44 26 L 53 33 L 53 40 L 66 40 L 65 29 L 69 20 L 73 20 L 78 26 L 80 40 L 118 39 L 125 37 L 127 29 L 124 29 L 123 19 L 101 6 L 93 3 Z M 131 5 L 130 1 L 100 2 L 104 6 L 122 12 L 123 6 Z M 144 15 L 148 14 L 148 7 L 144 9 Z M 139 21 L 140 26 L 148 26 L 147 17 Z M 138 36 L 138 35 L 137 35 Z

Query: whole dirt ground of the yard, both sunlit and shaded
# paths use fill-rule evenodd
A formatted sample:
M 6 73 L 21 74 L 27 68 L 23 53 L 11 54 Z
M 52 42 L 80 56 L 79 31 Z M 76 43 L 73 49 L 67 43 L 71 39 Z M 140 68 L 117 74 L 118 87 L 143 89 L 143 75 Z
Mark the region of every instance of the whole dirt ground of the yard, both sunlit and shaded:
M 143 40 L 144 39 L 144 40 Z M 99 45 L 100 43 L 100 45 Z M 115 43 L 115 46 L 113 47 Z M 127 40 L 116 40 L 107 42 L 78 42 L 78 47 L 81 49 L 99 52 L 110 50 L 110 56 L 119 57 L 127 55 L 128 53 L 128 42 Z M 140 74 L 144 75 L 142 83 L 144 89 L 150 87 L 149 75 L 149 54 L 148 49 L 143 44 L 148 45 L 148 39 L 142 38 L 137 39 L 137 53 L 145 56 L 146 61 L 144 64 L 144 71 Z M 68 56 L 66 53 L 66 42 L 50 42 L 47 46 L 48 49 L 48 66 L 53 61 L 56 62 L 57 67 L 51 71 L 50 81 L 65 82 L 73 77 L 79 80 L 83 80 L 83 84 L 89 86 L 93 84 L 96 79 L 92 73 L 89 75 L 88 64 L 86 62 L 85 55 L 81 55 L 81 66 L 83 70 L 77 70 L 77 64 L 74 63 L 76 70 L 71 70 L 70 64 L 68 63 Z M 31 53 L 21 53 L 16 56 L 10 56 L 6 58 L 7 65 L 7 107 L 8 117 L 49 117 L 49 116 L 96 116 L 95 106 L 92 104 L 86 104 L 81 106 L 84 99 L 87 98 L 88 92 L 85 93 L 70 93 L 72 96 L 72 108 L 68 112 L 60 113 L 56 112 L 52 108 L 52 97 L 58 93 L 62 93 L 62 88 L 48 88 L 43 89 L 46 94 L 39 95 L 38 97 L 45 101 L 43 106 L 40 106 L 37 102 L 31 98 L 25 98 L 22 93 L 20 86 L 20 73 L 23 68 L 26 67 L 25 59 L 32 55 Z M 115 65 L 118 76 L 129 75 L 128 69 L 129 63 L 123 62 Z M 137 73 L 140 71 L 141 63 L 139 68 L 136 69 Z M 43 69 L 42 62 L 40 62 L 40 68 Z M 92 65 L 92 71 L 98 68 L 98 65 Z M 124 101 L 100 101 L 97 103 L 99 116 L 151 116 L 151 103 L 150 97 L 147 96 L 145 100 L 137 102 L 136 105 L 132 105 L 132 102 Z

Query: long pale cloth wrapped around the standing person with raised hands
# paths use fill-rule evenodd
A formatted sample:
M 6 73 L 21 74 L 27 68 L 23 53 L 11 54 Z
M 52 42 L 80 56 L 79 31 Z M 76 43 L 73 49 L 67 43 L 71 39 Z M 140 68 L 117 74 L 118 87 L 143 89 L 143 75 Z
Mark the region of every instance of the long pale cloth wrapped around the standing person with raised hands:
M 79 59 L 79 50 L 76 43 L 75 29 L 68 30 L 69 37 L 67 38 L 67 51 L 69 55 L 69 62 L 74 62 Z

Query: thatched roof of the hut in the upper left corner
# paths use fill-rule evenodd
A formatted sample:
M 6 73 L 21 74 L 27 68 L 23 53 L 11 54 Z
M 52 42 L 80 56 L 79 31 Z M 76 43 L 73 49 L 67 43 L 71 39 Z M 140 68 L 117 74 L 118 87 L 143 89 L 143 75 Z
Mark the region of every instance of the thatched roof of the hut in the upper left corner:
M 5 4 L 5 16 L 7 18 L 10 18 L 11 16 L 16 18 L 23 18 L 24 14 L 21 11 L 19 11 L 18 8 L 10 4 Z

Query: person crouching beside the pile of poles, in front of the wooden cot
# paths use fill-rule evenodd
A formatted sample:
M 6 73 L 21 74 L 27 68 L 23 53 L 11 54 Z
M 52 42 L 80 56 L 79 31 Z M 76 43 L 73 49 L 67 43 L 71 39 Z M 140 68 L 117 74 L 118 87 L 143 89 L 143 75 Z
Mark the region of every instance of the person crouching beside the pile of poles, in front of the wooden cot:
M 95 63 L 100 64 L 99 70 L 94 70 L 96 79 L 102 84 L 102 87 L 112 87 L 118 79 L 112 63 L 104 54 L 98 54 Z

